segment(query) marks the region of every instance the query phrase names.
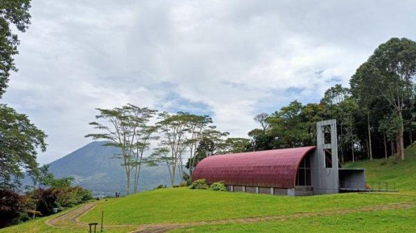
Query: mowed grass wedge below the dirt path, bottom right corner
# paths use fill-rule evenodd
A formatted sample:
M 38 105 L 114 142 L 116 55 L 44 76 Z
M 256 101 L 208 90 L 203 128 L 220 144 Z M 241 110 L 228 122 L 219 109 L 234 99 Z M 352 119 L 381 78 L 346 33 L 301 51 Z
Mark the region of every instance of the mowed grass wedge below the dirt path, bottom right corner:
M 229 223 L 187 227 L 169 233 L 279 233 L 279 232 L 416 232 L 416 208 L 316 216 L 289 221 Z

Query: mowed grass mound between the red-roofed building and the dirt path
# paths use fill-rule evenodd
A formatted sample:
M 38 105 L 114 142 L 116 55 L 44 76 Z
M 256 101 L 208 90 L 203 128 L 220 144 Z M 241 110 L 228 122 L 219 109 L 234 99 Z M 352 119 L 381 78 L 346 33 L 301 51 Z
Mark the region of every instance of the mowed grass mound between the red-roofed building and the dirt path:
M 379 194 L 291 197 L 193 190 L 184 187 L 157 189 L 101 202 L 80 220 L 98 221 L 101 211 L 104 211 L 105 222 L 110 224 L 183 223 L 411 201 L 416 201 L 416 197 Z

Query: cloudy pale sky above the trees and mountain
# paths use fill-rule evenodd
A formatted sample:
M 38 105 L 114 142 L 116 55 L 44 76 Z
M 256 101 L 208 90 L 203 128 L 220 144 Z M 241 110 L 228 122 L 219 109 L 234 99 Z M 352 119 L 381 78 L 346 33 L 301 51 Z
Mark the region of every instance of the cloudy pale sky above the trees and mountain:
M 257 113 L 319 102 L 391 37 L 416 39 L 415 1 L 32 2 L 2 102 L 48 134 L 52 162 L 91 142 L 96 108 L 209 114 L 248 137 Z

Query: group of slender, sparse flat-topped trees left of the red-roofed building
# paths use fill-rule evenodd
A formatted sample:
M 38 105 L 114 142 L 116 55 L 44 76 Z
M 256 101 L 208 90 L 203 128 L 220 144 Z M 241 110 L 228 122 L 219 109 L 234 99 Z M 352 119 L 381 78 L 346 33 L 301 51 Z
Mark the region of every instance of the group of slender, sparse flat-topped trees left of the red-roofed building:
M 89 123 L 97 133 L 85 137 L 119 148 L 113 158 L 124 167 L 126 194 L 139 191 L 142 166 L 166 165 L 172 186 L 189 183 L 193 168 L 206 156 L 242 152 L 250 145 L 248 139 L 218 131 L 208 115 L 159 112 L 133 104 L 97 111 L 96 121 Z

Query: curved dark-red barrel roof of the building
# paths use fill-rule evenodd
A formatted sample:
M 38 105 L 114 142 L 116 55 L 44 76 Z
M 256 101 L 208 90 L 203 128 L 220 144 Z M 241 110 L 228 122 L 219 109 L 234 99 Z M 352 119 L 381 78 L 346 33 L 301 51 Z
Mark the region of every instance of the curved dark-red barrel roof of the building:
M 316 147 L 297 147 L 209 156 L 201 160 L 192 180 L 207 183 L 225 181 L 226 185 L 255 187 L 295 187 L 297 167 L 302 158 Z

